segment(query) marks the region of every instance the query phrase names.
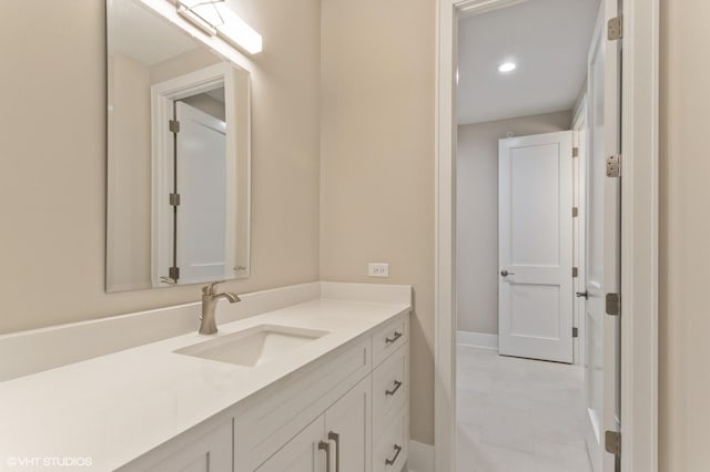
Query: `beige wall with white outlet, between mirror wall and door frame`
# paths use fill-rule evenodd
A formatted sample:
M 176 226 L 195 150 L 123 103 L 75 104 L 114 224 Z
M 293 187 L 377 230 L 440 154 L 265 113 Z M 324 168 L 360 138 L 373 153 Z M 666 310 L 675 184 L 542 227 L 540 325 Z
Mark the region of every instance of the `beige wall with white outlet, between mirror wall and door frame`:
M 435 1 L 322 4 L 321 277 L 414 285 L 412 438 L 433 443 Z

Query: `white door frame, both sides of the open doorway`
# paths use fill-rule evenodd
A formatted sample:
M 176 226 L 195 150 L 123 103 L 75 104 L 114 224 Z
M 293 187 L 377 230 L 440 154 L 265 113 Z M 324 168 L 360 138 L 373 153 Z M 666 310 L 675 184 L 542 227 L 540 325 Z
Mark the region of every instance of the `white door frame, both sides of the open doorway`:
M 435 470 L 456 461 L 457 19 L 520 0 L 438 0 L 435 115 Z M 658 471 L 659 0 L 623 2 L 621 424 L 623 471 Z

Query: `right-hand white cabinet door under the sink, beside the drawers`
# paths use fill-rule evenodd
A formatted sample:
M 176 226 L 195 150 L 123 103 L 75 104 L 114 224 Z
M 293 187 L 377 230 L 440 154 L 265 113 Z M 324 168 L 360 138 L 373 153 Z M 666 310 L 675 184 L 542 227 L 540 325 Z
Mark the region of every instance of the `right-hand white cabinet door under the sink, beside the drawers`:
M 326 438 L 331 441 L 331 470 L 369 472 L 372 377 L 365 378 L 325 412 Z

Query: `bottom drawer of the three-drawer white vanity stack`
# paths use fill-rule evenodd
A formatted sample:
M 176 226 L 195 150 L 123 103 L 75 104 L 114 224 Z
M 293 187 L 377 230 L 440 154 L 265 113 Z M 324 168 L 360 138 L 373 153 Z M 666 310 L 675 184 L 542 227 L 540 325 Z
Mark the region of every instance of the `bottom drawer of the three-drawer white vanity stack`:
M 373 472 L 399 472 L 409 448 L 408 406 L 395 414 L 373 448 Z

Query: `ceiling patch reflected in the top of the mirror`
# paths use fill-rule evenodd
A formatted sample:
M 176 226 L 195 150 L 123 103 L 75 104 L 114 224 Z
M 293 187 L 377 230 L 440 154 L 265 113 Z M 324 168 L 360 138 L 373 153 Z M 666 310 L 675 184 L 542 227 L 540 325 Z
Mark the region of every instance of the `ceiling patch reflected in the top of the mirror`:
M 166 20 L 134 1 L 109 3 L 109 50 L 153 65 L 200 45 Z

